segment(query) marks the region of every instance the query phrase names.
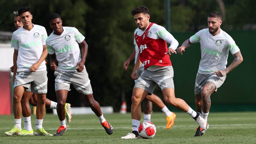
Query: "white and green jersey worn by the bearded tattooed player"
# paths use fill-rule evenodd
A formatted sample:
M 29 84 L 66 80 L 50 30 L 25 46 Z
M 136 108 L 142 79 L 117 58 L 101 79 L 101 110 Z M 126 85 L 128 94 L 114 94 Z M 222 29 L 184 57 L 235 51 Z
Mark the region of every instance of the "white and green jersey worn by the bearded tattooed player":
M 220 29 L 220 33 L 212 36 L 209 28 L 202 29 L 189 38 L 191 43 L 200 42 L 201 60 L 198 73 L 211 74 L 216 70 L 226 69 L 228 52 L 239 52 L 239 48 L 230 35 Z

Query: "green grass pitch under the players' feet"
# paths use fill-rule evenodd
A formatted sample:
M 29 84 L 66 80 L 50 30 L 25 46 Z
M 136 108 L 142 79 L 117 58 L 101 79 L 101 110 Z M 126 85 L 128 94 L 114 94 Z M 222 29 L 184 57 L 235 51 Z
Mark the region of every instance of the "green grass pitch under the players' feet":
M 14 125 L 14 116 L 0 116 L 0 143 L 256 143 L 256 112 L 212 112 L 208 118 L 209 129 L 202 137 L 193 137 L 198 125 L 184 112 L 177 112 L 174 126 L 168 130 L 165 115 L 154 112 L 151 122 L 157 132 L 153 139 L 130 139 L 120 137 L 131 132 L 131 114 L 104 114 L 114 128 L 106 134 L 95 115 L 73 115 L 67 131 L 61 137 L 5 136 L 4 132 Z M 31 116 L 35 128 L 35 116 Z M 22 122 L 22 127 L 24 126 Z M 47 114 L 43 126 L 49 133 L 59 127 L 58 116 Z

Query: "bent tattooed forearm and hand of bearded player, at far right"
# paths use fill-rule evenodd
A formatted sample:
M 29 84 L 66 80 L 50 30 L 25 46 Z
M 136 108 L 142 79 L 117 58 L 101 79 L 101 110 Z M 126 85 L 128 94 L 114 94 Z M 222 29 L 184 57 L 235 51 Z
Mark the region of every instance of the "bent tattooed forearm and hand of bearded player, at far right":
M 233 70 L 239 64 L 242 63 L 243 57 L 242 57 L 242 54 L 241 54 L 240 51 L 235 53 L 235 54 L 233 54 L 233 57 L 234 57 L 234 60 L 232 61 L 232 63 L 225 70 L 217 70 L 217 71 L 215 71 L 215 73 L 216 73 L 216 75 L 218 77 L 226 76 L 231 70 Z

